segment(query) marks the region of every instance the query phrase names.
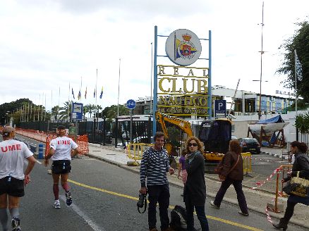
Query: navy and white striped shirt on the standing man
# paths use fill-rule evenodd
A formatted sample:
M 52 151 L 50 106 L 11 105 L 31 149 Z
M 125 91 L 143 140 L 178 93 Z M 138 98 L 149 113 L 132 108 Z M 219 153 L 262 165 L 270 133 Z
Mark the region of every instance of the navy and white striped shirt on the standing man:
M 165 149 L 155 150 L 152 147 L 144 151 L 140 163 L 140 185 L 166 185 L 168 184 L 166 172 L 169 171 L 169 156 Z

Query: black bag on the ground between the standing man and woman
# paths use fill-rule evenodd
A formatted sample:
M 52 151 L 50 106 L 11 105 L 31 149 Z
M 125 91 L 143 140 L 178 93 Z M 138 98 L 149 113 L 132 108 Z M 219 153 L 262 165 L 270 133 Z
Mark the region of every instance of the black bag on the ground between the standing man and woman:
M 186 208 L 181 206 L 175 206 L 171 211 L 171 223 L 169 224 L 174 231 L 186 231 L 187 230 L 187 213 Z

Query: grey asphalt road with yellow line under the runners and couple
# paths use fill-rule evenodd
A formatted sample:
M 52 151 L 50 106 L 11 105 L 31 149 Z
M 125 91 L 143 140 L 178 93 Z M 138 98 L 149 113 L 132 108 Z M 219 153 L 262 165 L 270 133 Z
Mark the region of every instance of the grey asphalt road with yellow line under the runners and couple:
M 70 175 L 73 206 L 65 206 L 60 188 L 61 208 L 55 209 L 52 176 L 47 169 L 38 163 L 30 185 L 25 188 L 20 203 L 23 230 L 147 230 L 147 213 L 138 213 L 136 207 L 138 174 L 93 158 L 73 159 Z M 176 204 L 183 205 L 181 187 L 170 185 L 170 192 L 169 211 Z M 265 214 L 250 211 L 249 217 L 243 217 L 237 213 L 238 206 L 226 202 L 217 210 L 209 206 L 212 199 L 208 196 L 205 206 L 210 230 L 273 230 Z M 195 227 L 200 227 L 196 216 Z M 305 230 L 296 225 L 289 229 Z

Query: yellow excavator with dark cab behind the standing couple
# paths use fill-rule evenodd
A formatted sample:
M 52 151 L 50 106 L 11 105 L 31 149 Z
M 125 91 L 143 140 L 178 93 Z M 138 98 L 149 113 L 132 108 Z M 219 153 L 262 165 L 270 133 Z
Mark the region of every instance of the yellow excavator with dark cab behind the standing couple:
M 193 136 L 193 130 L 190 122 L 169 116 L 164 113 L 156 112 L 156 120 L 159 123 L 162 132 L 166 136 L 165 148 L 170 156 L 174 156 L 175 149 L 181 149 L 181 142 L 186 141 Z M 167 124 L 167 125 L 166 125 Z M 180 130 L 180 134 L 171 137 L 169 127 L 175 126 Z M 173 132 L 175 133 L 175 132 Z M 178 132 L 179 133 L 179 132 Z M 231 121 L 226 119 L 204 120 L 199 130 L 198 138 L 204 143 L 204 153 L 206 163 L 217 163 L 222 160 L 224 154 L 229 149 L 231 140 Z

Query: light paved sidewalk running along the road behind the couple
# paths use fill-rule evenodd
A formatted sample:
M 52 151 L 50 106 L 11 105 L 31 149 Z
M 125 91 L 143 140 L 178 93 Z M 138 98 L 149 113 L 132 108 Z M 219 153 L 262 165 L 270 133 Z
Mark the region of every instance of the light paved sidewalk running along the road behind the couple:
M 270 148 L 262 148 L 262 151 L 268 154 L 281 154 L 281 149 L 270 149 Z M 270 153 L 272 151 L 272 153 Z M 287 151 L 287 150 L 286 150 Z M 107 163 L 114 164 L 126 170 L 130 170 L 134 173 L 139 173 L 139 166 L 127 166 L 128 161 L 133 161 L 132 159 L 126 156 L 123 148 L 115 148 L 114 146 L 102 146 L 99 144 L 89 144 L 89 156 L 92 158 L 97 158 L 101 161 L 105 161 Z M 273 170 L 269 170 L 269 175 L 272 174 Z M 246 195 L 246 200 L 248 204 L 248 208 L 260 213 L 265 214 L 265 208 L 267 203 L 272 203 L 272 200 L 275 197 L 275 185 L 276 185 L 276 175 L 272 177 L 269 181 L 265 182 L 269 176 L 263 176 L 256 173 L 250 173 L 250 177 L 246 177 L 243 180 L 243 192 Z M 181 179 L 177 178 L 177 175 L 169 175 L 169 184 L 175 185 L 177 187 L 183 187 L 183 182 Z M 136 180 L 139 181 L 138 175 L 136 176 Z M 206 189 L 207 196 L 214 197 L 219 190 L 221 182 L 219 182 L 217 175 L 205 173 L 206 180 Z M 257 187 L 255 185 L 256 182 L 265 182 L 258 189 L 251 189 L 252 187 Z M 278 204 L 284 206 L 284 210 L 286 208 L 286 198 L 279 197 Z M 224 201 L 227 201 L 232 204 L 238 205 L 238 201 L 236 198 L 236 192 L 234 187 L 230 187 L 224 196 Z M 209 209 L 212 209 L 210 205 L 206 204 Z M 222 208 L 224 208 L 224 203 L 222 204 Z M 282 218 L 284 216 L 284 211 L 281 213 L 274 213 L 269 211 L 269 215 L 272 218 Z M 273 219 L 274 220 L 274 219 Z M 267 216 L 265 214 L 265 222 L 267 221 Z M 275 222 L 277 222 L 275 220 Z M 303 204 L 297 204 L 295 207 L 294 215 L 291 218 L 291 223 L 296 225 L 301 225 L 303 227 L 309 228 L 309 209 L 308 206 L 304 206 Z M 269 224 L 270 227 L 270 224 Z

